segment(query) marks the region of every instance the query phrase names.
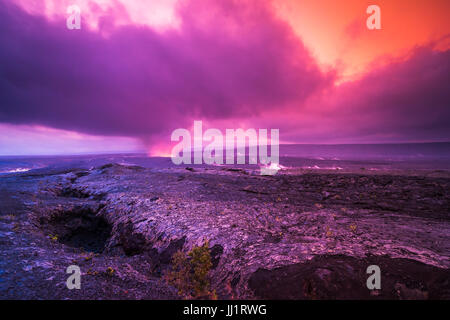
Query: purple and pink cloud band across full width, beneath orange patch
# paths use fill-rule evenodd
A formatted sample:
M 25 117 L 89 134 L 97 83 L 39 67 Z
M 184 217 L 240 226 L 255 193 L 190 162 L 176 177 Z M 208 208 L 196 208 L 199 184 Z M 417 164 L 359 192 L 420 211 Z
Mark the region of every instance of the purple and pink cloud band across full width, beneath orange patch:
M 164 31 L 111 10 L 105 36 L 0 1 L 0 122 L 159 149 L 193 120 L 284 142 L 450 140 L 450 51 L 434 44 L 336 86 L 270 1 L 185 1 Z

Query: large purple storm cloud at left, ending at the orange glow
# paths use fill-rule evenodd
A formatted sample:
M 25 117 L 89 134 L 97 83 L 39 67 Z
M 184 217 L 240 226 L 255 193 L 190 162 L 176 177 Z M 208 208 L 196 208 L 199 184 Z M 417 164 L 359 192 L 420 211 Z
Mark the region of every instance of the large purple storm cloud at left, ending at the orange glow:
M 105 18 L 102 36 L 1 2 L 0 122 L 148 137 L 301 103 L 333 79 L 263 1 L 192 1 L 178 14 L 163 33 Z

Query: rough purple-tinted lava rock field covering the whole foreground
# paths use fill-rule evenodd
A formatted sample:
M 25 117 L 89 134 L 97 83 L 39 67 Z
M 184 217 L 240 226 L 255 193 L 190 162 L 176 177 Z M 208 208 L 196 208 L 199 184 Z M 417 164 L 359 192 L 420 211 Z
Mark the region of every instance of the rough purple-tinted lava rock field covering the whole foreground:
M 450 179 L 109 164 L 0 179 L 0 296 L 176 299 L 210 245 L 225 299 L 450 299 Z M 65 287 L 77 264 L 82 290 Z M 368 290 L 378 265 L 382 287 Z M 18 285 L 20 283 L 20 285 Z

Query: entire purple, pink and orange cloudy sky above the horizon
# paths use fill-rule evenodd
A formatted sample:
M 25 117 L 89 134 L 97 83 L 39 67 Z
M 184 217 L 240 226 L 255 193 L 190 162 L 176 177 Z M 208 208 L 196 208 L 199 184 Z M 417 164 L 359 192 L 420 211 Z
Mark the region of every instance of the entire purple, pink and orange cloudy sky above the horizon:
M 81 29 L 66 27 L 67 7 Z M 368 5 L 381 10 L 369 30 Z M 447 0 L 0 0 L 0 155 L 450 141 Z

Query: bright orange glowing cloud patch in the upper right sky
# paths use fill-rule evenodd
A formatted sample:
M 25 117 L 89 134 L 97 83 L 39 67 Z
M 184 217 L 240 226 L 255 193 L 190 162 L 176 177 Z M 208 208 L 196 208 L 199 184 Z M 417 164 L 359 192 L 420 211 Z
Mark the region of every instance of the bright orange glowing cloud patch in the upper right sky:
M 381 30 L 366 27 L 371 4 L 381 9 Z M 280 0 L 277 5 L 319 62 L 346 76 L 365 71 L 380 56 L 402 55 L 450 31 L 447 0 Z

